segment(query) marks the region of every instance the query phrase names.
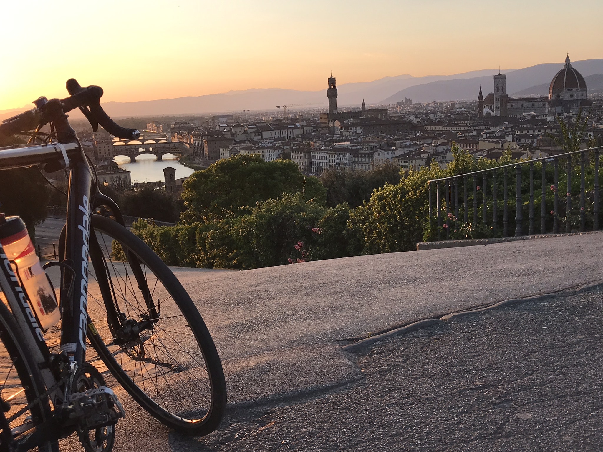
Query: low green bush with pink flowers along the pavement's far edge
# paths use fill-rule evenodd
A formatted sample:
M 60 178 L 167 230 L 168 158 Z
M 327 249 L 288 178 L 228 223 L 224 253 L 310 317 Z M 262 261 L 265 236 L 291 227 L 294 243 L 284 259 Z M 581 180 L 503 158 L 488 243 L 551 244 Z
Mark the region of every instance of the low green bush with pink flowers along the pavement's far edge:
M 235 218 L 174 227 L 139 220 L 132 231 L 168 265 L 251 269 L 358 254 L 360 234 L 350 230 L 349 212 L 346 204 L 328 209 L 296 193 Z

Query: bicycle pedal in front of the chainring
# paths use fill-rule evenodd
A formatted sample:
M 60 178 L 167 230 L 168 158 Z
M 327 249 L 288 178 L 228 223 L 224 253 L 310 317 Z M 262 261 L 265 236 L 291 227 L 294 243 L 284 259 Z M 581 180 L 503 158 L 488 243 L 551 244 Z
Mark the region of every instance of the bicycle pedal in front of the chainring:
M 74 392 L 69 397 L 69 402 L 73 407 L 69 418 L 81 430 L 115 425 L 119 419 L 125 418 L 124 408 L 115 392 L 107 386 Z

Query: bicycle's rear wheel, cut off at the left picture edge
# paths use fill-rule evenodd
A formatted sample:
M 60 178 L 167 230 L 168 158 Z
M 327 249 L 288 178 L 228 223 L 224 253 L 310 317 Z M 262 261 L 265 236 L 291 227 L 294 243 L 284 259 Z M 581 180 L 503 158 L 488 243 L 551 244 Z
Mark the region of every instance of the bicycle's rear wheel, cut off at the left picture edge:
M 0 291 L 1 292 L 1 291 Z M 30 355 L 25 352 L 21 344 L 25 342 L 24 333 L 21 331 L 17 322 L 13 318 L 13 315 L 8 310 L 2 301 L 0 301 L 0 342 L 4 345 L 4 350 L 0 350 L 0 396 L 3 401 L 10 400 L 11 407 L 8 412 L 0 410 L 0 416 L 2 416 L 2 433 L 0 434 L 0 441 L 7 441 L 10 438 L 19 439 L 27 428 L 28 432 L 31 432 L 31 428 L 35 428 L 36 424 L 47 421 L 51 418 L 51 407 L 49 403 L 49 397 L 40 397 L 46 391 L 46 387 L 43 383 L 42 375 L 38 369 L 38 366 L 31 359 Z M 10 363 L 12 361 L 12 363 Z M 10 366 L 8 364 L 10 363 Z M 10 377 L 11 370 L 16 371 L 16 376 L 21 383 L 21 389 L 19 385 L 16 385 L 14 377 Z M 8 371 L 5 375 L 5 370 Z M 5 392 L 10 393 L 6 395 Z M 19 397 L 20 394 L 25 394 L 25 398 Z M 14 402 L 13 402 L 14 401 Z M 31 408 L 21 415 L 19 415 L 13 422 L 10 423 L 11 433 L 10 437 L 5 432 L 5 428 L 8 425 L 7 420 L 10 419 L 11 413 L 16 413 L 24 406 L 34 403 Z M 27 415 L 27 412 L 30 415 Z M 7 419 L 8 415 L 8 419 Z M 27 417 L 31 416 L 31 420 L 27 421 Z M 22 422 L 19 424 L 19 422 Z M 16 432 L 21 432 L 19 435 L 14 435 Z M 6 444 L 0 442 L 0 450 L 8 450 Z M 40 452 L 58 451 L 58 442 L 49 441 L 48 443 L 38 447 Z

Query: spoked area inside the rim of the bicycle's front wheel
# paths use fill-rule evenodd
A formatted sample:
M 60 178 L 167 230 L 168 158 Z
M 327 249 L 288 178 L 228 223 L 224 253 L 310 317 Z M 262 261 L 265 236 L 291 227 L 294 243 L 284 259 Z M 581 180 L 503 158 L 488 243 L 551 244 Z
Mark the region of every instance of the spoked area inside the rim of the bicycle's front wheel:
M 114 255 L 112 251 L 119 249 L 114 244 L 115 239 L 104 231 L 97 230 L 96 234 L 110 286 L 111 281 L 113 283 L 118 315 L 123 313 L 125 318 L 137 322 L 148 318 L 153 309 L 158 315 L 153 317 L 149 329 L 140 333 L 135 342 L 118 346 L 107 329 L 106 307 L 109 305 L 104 304 L 101 294 L 92 296 L 94 303 L 90 315 L 98 318 L 100 326 L 96 329 L 106 347 L 111 347 L 110 356 L 115 357 L 128 378 L 157 406 L 183 421 L 203 418 L 212 403 L 212 386 L 205 357 L 188 319 L 151 268 L 140 262 L 140 273 L 133 271 L 130 263 L 134 264 L 139 258 L 134 257 L 124 243 L 119 242 L 121 251 Z M 130 256 L 130 260 L 115 260 L 114 256 L 119 256 L 119 259 Z M 135 275 L 144 280 L 137 280 Z M 98 279 L 95 280 L 98 283 Z M 150 297 L 148 303 L 147 297 Z

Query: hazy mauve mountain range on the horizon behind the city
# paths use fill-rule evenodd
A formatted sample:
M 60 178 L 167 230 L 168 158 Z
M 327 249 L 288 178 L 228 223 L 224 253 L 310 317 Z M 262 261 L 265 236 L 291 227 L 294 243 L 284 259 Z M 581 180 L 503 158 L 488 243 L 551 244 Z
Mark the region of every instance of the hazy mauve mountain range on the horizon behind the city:
M 572 65 L 584 76 L 589 93 L 603 90 L 603 58 L 573 61 Z M 560 63 L 537 64 L 523 69 L 505 69 L 507 93 L 517 95 L 548 95 L 548 86 L 555 74 L 563 67 Z M 498 69 L 464 72 L 454 75 L 428 75 L 412 77 L 397 75 L 379 80 L 344 83 L 338 86 L 337 104 L 341 107 L 367 104 L 395 104 L 404 98 L 414 102 L 458 101 L 477 99 L 479 86 L 484 96 L 493 90 L 493 75 Z M 327 74 L 328 75 L 328 74 Z M 124 116 L 191 115 L 196 113 L 224 113 L 242 110 L 274 110 L 276 105 L 300 104 L 303 107 L 326 107 L 325 89 L 300 91 L 292 89 L 248 89 L 204 96 L 175 99 L 158 99 L 138 102 L 106 102 L 103 108 L 114 118 Z M 337 74 L 333 74 L 337 75 Z M 543 87 L 546 86 L 546 90 Z M 0 111 L 0 120 L 19 113 L 22 109 Z M 70 113 L 80 118 L 78 111 Z

